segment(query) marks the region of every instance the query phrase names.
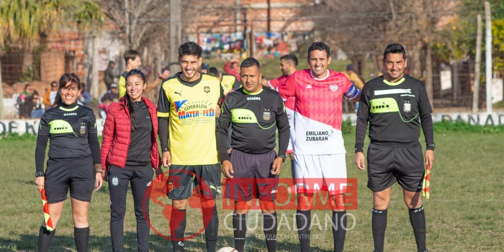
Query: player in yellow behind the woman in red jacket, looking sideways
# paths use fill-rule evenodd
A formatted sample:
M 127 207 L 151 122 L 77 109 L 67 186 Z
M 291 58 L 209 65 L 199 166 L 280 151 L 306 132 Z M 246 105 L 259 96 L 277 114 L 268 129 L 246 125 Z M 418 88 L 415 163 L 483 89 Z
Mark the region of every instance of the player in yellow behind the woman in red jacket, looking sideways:
M 142 59 L 140 57 L 140 53 L 135 50 L 127 50 L 124 52 L 124 61 L 126 61 L 126 71 L 119 76 L 119 98 L 124 96 L 126 93 L 126 79 L 124 78 L 128 72 L 132 69 L 139 69 L 142 66 Z M 149 92 L 156 88 L 156 86 L 161 83 L 164 79 L 170 76 L 170 71 L 165 70 L 162 74 L 158 73 L 158 78 L 152 81 L 151 83 L 147 83 L 147 87 L 144 89 L 144 92 Z

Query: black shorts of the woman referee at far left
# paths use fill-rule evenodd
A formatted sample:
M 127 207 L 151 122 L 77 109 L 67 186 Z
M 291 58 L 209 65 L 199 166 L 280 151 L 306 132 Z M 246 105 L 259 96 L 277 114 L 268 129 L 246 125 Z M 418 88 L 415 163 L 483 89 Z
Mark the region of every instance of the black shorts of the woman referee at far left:
M 47 160 L 44 185 L 47 203 L 65 201 L 69 188 L 71 198 L 90 202 L 94 185 L 95 171 L 92 157 L 69 162 Z

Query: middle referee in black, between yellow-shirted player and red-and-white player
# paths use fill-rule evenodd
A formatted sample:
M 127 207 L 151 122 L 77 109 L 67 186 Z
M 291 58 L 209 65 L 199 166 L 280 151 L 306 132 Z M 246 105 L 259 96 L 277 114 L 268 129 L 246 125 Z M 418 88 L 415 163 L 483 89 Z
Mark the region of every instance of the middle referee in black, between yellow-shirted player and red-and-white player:
M 268 251 L 276 250 L 277 215 L 273 201 L 285 161 L 290 127 L 282 97 L 276 91 L 263 88 L 259 83 L 262 75 L 257 59 L 243 60 L 240 66 L 242 87 L 224 99 L 216 131 L 222 172 L 230 179 L 224 196 L 235 200 L 233 227 L 238 251 L 243 251 L 245 245 L 246 214 L 253 192 L 263 211 Z M 230 124 L 232 150 L 228 154 Z M 277 129 L 278 155 L 274 150 Z

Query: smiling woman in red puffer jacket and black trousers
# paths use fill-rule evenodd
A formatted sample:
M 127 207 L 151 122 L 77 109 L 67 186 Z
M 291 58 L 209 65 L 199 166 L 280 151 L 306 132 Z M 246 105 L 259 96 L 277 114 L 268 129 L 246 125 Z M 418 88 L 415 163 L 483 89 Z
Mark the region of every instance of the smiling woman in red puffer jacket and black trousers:
M 157 147 L 156 106 L 142 97 L 144 74 L 126 75 L 127 93 L 110 104 L 103 128 L 101 163 L 110 191 L 110 236 L 113 251 L 122 251 L 126 196 L 131 183 L 137 217 L 138 251 L 149 249 L 149 200 L 143 201 L 154 170 L 162 174 Z M 154 170 L 153 170 L 154 168 Z M 145 212 L 144 212 L 145 204 Z

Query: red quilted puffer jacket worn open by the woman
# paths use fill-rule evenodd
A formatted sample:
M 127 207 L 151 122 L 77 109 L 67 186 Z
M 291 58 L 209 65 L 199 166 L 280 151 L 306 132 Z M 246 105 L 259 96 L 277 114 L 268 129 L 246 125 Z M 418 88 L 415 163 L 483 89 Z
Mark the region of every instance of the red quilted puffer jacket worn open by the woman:
M 160 163 L 157 146 L 157 111 L 151 100 L 142 97 L 149 108 L 152 120 L 151 134 L 151 161 L 152 167 L 158 168 Z M 110 104 L 105 125 L 103 126 L 103 141 L 101 142 L 101 166 L 107 169 L 109 165 L 124 168 L 128 157 L 128 148 L 131 143 L 131 122 L 128 106 L 125 106 L 125 98 L 119 102 Z

